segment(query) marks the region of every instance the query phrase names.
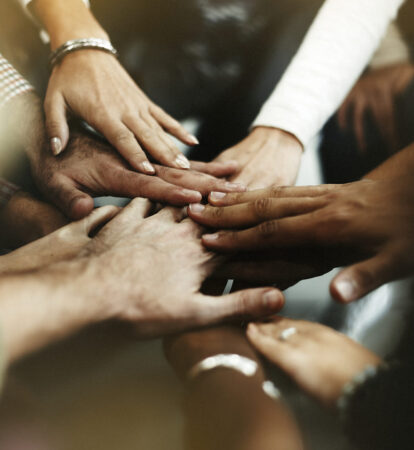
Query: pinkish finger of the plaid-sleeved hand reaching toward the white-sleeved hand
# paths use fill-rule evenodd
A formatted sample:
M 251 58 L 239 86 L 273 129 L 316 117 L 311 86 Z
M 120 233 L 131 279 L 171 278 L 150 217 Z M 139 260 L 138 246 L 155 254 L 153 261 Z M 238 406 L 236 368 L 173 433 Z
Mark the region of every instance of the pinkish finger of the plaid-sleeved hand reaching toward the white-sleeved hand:
M 188 189 L 194 189 L 203 196 L 207 196 L 211 191 L 220 189 L 224 192 L 243 192 L 246 187 L 238 183 L 230 183 L 211 175 L 193 170 L 179 170 L 171 167 L 155 166 L 157 175 L 164 181 Z

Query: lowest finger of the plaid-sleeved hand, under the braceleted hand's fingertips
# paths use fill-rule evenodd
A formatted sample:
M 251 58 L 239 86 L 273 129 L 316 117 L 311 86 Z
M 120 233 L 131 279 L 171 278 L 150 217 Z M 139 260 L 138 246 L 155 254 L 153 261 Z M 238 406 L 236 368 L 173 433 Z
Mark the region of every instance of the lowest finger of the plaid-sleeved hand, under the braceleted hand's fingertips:
M 169 169 L 174 170 L 174 169 Z M 159 172 L 159 168 L 157 168 Z M 186 173 L 184 171 L 178 171 Z M 199 202 L 202 195 L 194 186 L 188 184 L 191 189 L 171 184 L 159 176 L 152 177 L 131 170 L 116 170 L 111 179 L 115 182 L 108 186 L 108 192 L 111 195 L 119 195 L 121 197 L 145 197 L 154 202 L 167 203 L 175 206 L 184 206 L 189 203 Z

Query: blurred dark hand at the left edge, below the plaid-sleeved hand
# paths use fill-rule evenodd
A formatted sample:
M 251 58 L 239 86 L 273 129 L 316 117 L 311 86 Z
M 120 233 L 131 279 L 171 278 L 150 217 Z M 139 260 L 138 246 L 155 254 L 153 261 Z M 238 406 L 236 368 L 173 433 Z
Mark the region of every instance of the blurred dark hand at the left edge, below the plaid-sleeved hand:
M 0 210 L 0 246 L 14 249 L 39 239 L 67 223 L 55 207 L 18 191 Z

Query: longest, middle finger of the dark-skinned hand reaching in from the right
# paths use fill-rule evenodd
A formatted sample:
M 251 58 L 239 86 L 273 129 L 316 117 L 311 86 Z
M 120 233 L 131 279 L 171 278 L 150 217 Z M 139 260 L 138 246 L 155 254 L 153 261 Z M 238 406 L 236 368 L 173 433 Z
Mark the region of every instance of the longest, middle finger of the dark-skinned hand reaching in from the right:
M 188 208 L 188 215 L 196 222 L 212 228 L 242 228 L 267 220 L 305 214 L 325 205 L 324 197 L 260 198 L 254 202 L 226 207 L 192 204 Z

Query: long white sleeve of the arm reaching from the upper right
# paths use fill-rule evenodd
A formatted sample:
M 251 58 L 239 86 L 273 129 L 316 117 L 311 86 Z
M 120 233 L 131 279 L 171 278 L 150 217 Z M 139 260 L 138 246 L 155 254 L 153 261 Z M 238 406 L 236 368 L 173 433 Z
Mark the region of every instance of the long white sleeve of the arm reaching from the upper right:
M 306 145 L 345 99 L 404 0 L 326 0 L 253 126 Z

